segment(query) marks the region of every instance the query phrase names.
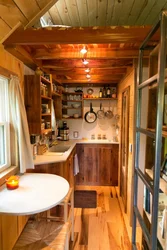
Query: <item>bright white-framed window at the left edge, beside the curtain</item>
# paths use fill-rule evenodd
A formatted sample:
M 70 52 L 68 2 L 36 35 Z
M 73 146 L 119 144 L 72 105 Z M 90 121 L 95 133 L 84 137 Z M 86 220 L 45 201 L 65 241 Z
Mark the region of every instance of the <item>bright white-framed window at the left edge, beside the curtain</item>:
M 11 165 L 8 88 L 8 79 L 0 76 L 0 172 Z

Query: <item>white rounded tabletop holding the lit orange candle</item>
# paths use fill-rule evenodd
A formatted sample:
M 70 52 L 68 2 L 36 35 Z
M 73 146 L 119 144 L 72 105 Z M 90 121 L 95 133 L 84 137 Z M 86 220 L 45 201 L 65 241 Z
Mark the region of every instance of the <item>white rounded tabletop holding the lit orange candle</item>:
M 53 174 L 24 174 L 19 187 L 0 188 L 0 213 L 28 215 L 46 211 L 59 204 L 67 195 L 68 182 Z

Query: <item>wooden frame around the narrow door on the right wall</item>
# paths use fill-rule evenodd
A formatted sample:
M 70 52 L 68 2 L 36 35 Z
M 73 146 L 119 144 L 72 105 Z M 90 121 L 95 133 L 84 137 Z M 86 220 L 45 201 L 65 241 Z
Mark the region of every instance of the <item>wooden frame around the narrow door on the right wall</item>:
M 122 197 L 122 192 L 121 192 L 121 185 L 122 185 L 122 177 L 123 177 L 123 170 L 122 170 L 122 159 L 123 159 L 123 155 L 122 155 L 122 147 L 123 147 L 123 95 L 124 93 L 127 92 L 127 110 L 126 110 L 126 115 L 127 115 L 127 124 L 126 124 L 126 144 L 127 144 L 127 153 L 126 153 L 126 173 L 125 173 L 125 196 Z M 122 197 L 122 202 L 124 205 L 124 212 L 127 213 L 127 190 L 128 190 L 128 160 L 129 160 L 129 113 L 130 113 L 130 86 L 126 87 L 125 89 L 122 90 L 121 92 L 121 141 L 120 141 L 120 196 Z M 123 187 L 124 188 L 124 187 Z

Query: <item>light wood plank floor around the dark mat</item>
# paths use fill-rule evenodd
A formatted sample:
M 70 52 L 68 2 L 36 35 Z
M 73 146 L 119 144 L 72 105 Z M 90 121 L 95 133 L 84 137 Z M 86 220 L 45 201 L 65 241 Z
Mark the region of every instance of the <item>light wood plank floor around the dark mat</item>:
M 116 188 L 77 186 L 76 190 L 96 190 L 97 208 L 75 208 L 70 250 L 130 250 Z

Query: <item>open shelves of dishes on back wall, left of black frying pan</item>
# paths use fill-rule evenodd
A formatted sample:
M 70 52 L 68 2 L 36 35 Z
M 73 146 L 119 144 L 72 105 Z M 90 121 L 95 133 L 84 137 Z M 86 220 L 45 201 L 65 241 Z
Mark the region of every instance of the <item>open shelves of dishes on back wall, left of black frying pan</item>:
M 62 93 L 62 118 L 82 119 L 83 118 L 83 93 L 63 92 Z

